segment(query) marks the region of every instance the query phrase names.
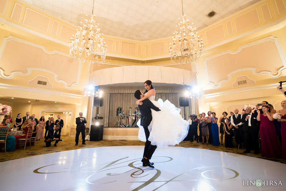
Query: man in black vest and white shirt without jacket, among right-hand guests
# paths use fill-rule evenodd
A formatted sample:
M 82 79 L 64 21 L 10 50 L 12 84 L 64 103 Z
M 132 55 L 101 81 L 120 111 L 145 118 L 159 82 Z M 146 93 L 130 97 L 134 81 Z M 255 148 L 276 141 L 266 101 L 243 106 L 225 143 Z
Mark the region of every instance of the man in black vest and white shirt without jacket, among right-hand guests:
M 241 121 L 242 115 L 238 114 L 238 109 L 234 109 L 234 115 L 230 116 L 231 124 L 234 127 L 235 142 L 238 144 L 244 143 L 243 124 Z

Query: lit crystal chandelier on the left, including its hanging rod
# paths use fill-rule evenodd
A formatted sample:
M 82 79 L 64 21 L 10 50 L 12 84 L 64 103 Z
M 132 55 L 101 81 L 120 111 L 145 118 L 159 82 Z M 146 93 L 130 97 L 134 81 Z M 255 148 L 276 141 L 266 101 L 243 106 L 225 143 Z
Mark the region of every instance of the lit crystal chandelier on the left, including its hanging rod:
M 76 30 L 76 35 L 72 35 L 69 43 L 69 55 L 81 62 L 100 65 L 105 62 L 106 45 L 103 41 L 103 33 L 100 35 L 99 24 L 94 20 L 93 8 L 94 1 L 90 21 L 88 21 L 88 15 L 86 15 L 84 25 L 82 26 L 81 22 Z

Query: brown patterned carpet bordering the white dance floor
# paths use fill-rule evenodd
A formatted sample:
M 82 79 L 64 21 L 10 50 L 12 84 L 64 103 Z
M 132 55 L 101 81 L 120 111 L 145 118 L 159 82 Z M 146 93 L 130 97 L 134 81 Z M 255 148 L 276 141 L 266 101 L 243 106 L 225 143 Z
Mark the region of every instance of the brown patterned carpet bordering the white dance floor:
M 57 147 L 53 146 L 53 143 L 50 147 L 46 147 L 44 140 L 36 141 L 35 146 L 26 146 L 26 149 L 20 148 L 17 150 L 14 150 L 12 152 L 2 152 L 0 151 L 0 162 L 7 161 L 7 160 L 14 160 L 18 158 L 24 158 L 29 156 L 35 156 L 40 154 L 47 154 L 47 153 L 53 153 L 53 152 L 60 152 L 60 151 L 67 151 L 67 150 L 76 150 L 76 149 L 82 149 L 82 148 L 94 148 L 94 147 L 108 147 L 108 146 L 144 146 L 145 142 L 141 141 L 117 141 L 117 140 L 102 140 L 102 141 L 86 141 L 86 145 L 82 145 L 81 142 L 78 144 L 78 146 L 75 146 L 75 138 L 68 137 L 68 135 L 61 136 L 63 139 L 62 142 L 59 142 L 57 144 Z M 212 146 L 212 145 L 206 145 L 201 143 L 196 143 L 194 141 L 193 143 L 190 143 L 189 141 L 182 141 L 177 147 L 188 147 L 188 148 L 200 148 L 200 149 L 208 149 L 208 150 L 216 150 L 216 151 L 223 151 L 223 152 L 229 152 L 234 154 L 241 154 L 256 158 L 262 158 L 265 160 L 271 160 L 275 162 L 280 162 L 283 164 L 286 164 L 286 160 L 282 158 L 278 159 L 269 159 L 269 158 L 263 158 L 261 157 L 261 153 L 258 155 L 253 154 L 253 151 L 251 153 L 244 154 L 243 151 L 245 148 L 225 148 L 224 146 L 220 145 L 218 147 Z M 142 151 L 143 152 L 143 151 Z

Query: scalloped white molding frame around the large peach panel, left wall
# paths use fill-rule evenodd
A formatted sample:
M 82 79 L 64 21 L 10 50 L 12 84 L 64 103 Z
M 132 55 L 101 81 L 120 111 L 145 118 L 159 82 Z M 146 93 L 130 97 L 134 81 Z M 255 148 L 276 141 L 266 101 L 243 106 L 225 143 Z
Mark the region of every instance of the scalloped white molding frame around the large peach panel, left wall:
M 10 41 L 10 40 L 14 40 L 14 41 L 18 41 L 18 42 L 21 42 L 21 43 L 25 43 L 27 45 L 38 47 L 38 48 L 42 49 L 45 53 L 50 54 L 50 55 L 57 53 L 59 55 L 65 56 L 65 57 L 72 58 L 70 55 L 65 54 L 63 52 L 60 52 L 60 51 L 57 51 L 57 50 L 47 51 L 44 46 L 41 46 L 41 45 L 38 45 L 38 44 L 35 44 L 35 43 L 32 43 L 32 42 L 29 42 L 29 41 L 25 41 L 23 39 L 19 39 L 19 38 L 16 38 L 16 37 L 9 36 L 7 38 L 4 38 L 3 42 L 1 44 L 1 47 L 0 47 L 0 59 L 2 57 L 2 54 L 3 54 L 3 51 L 5 49 L 5 46 L 6 46 L 7 42 Z M 0 77 L 2 77 L 3 79 L 12 79 L 14 77 L 14 75 L 28 76 L 28 75 L 30 75 L 32 73 L 33 70 L 44 71 L 44 72 L 48 72 L 48 73 L 51 73 L 52 75 L 54 75 L 54 80 L 56 82 L 58 82 L 58 83 L 63 83 L 65 85 L 66 89 L 72 89 L 75 85 L 79 84 L 81 62 L 78 61 L 78 63 L 79 63 L 79 65 L 78 65 L 78 74 L 77 74 L 76 83 L 72 83 L 70 87 L 68 87 L 68 84 L 67 84 L 66 81 L 57 79 L 57 77 L 59 76 L 58 74 L 54 73 L 53 71 L 50 71 L 50 70 L 47 70 L 47 69 L 43 69 L 43 68 L 29 67 L 29 68 L 26 68 L 27 69 L 27 73 L 22 73 L 22 72 L 19 72 L 19 71 L 15 71 L 15 72 L 11 72 L 9 76 L 5 75 L 4 71 L 0 68 Z

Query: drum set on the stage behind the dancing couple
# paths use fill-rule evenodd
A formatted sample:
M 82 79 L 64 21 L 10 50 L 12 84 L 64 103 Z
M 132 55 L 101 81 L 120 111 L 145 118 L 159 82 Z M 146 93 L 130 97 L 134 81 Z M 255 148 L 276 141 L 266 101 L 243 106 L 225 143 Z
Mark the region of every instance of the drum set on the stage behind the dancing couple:
M 117 122 L 114 127 L 138 127 L 137 122 L 141 117 L 138 108 L 135 108 L 134 114 L 132 114 L 132 108 L 128 110 L 128 116 L 124 115 L 124 110 L 121 107 L 116 109 Z M 132 123 L 133 120 L 133 123 Z

